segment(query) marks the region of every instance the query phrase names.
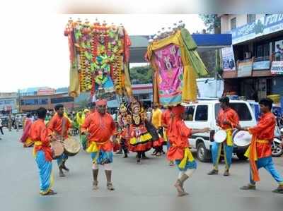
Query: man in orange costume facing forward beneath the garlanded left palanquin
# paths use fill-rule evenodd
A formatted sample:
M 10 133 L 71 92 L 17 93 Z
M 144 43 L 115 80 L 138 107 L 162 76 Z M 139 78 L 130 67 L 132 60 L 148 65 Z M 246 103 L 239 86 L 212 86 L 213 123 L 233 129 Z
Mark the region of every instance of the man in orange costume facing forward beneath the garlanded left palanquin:
M 106 100 L 96 102 L 96 111 L 89 114 L 81 126 L 81 133 L 88 138 L 86 152 L 91 153 L 93 160 L 93 190 L 98 189 L 98 164 L 103 165 L 107 179 L 107 188 L 114 191 L 111 181 L 111 163 L 113 161 L 113 144 L 110 140 L 116 133 L 115 121 L 106 112 Z

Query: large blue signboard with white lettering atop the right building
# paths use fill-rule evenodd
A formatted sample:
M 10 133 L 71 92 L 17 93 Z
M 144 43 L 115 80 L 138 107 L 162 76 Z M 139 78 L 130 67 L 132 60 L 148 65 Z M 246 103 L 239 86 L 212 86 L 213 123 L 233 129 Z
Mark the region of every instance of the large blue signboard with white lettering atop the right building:
M 232 43 L 237 44 L 262 35 L 283 30 L 283 14 L 272 14 L 231 30 Z

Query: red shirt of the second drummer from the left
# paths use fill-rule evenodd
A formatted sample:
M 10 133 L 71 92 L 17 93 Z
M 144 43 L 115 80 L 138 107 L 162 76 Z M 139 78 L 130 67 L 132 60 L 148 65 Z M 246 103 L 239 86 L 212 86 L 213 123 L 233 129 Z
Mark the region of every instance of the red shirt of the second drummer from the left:
M 64 129 L 63 137 L 67 138 L 68 130 L 69 128 L 71 128 L 71 122 L 66 116 L 59 116 L 58 114 L 55 114 L 48 123 L 48 133 L 51 134 L 55 132 L 57 135 L 61 135 L 63 119 L 65 121 L 65 129 Z

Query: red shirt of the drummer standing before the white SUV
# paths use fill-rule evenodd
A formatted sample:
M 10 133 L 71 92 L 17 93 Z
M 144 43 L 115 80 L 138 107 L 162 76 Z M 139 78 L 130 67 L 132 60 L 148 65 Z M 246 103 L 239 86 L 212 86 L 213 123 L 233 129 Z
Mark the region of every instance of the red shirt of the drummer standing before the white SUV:
M 239 123 L 238 114 L 231 108 L 227 108 L 225 110 L 220 109 L 217 116 L 217 123 L 224 130 L 231 128 L 231 126 L 224 124 L 224 121 L 228 121 L 231 123 L 232 128 L 235 128 Z

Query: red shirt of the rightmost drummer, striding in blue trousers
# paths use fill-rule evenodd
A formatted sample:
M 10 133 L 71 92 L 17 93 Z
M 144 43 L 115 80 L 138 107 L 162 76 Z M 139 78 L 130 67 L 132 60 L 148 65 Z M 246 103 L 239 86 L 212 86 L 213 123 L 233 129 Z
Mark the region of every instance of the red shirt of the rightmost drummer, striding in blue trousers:
M 257 140 L 269 140 L 269 143 L 256 143 L 258 158 L 271 156 L 271 144 L 274 138 L 275 125 L 275 116 L 268 112 L 260 116 L 256 126 L 248 129 L 250 134 L 255 135 Z

